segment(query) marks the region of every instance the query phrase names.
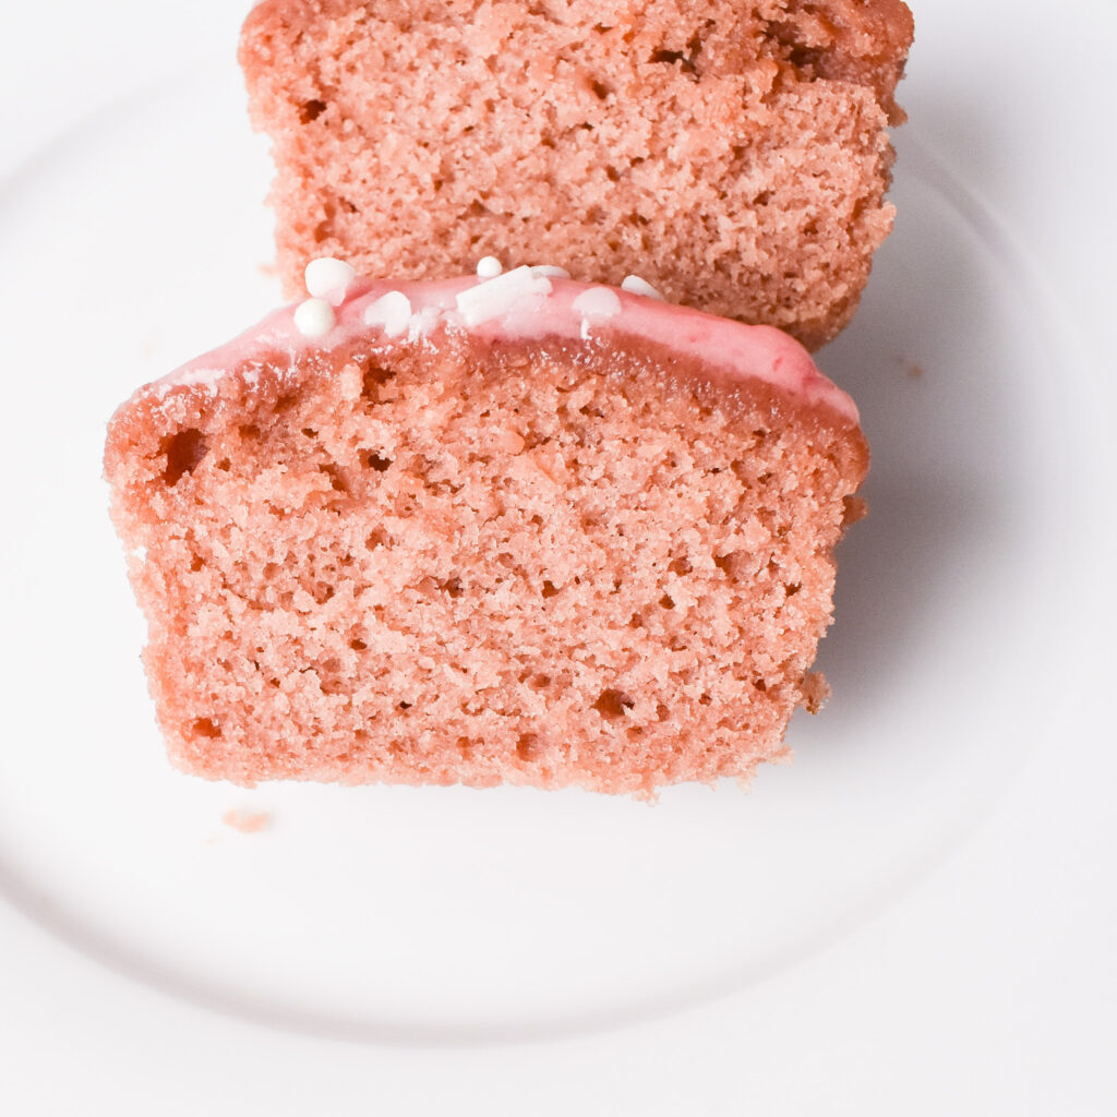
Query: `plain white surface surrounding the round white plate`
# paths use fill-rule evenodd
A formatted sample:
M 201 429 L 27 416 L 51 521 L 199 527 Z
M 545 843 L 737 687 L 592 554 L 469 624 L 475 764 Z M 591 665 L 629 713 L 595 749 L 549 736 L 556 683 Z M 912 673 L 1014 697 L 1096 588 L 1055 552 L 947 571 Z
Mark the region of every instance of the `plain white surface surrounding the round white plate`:
M 911 127 L 995 216 L 1042 293 L 1065 344 L 1072 408 L 1090 416 L 1083 437 L 1111 438 L 1097 412 L 1111 421 L 1115 400 L 1106 346 L 1117 258 L 1115 8 L 1088 0 L 1057 10 L 1033 0 L 915 7 L 917 46 L 901 94 Z M 66 144 L 96 113 L 228 58 L 242 9 L 206 0 L 7 11 L 0 207 L 13 172 Z M 66 248 L 41 247 L 59 279 L 59 292 L 44 297 L 58 298 L 64 315 L 69 299 L 104 297 L 65 288 Z M 7 337 L 19 334 L 21 321 L 7 313 L 0 321 Z M 0 376 L 7 386 L 8 378 L 49 373 L 45 356 L 42 367 Z M 1076 618 L 1073 645 L 1033 665 L 1043 741 L 1006 766 L 1004 785 L 945 860 L 824 948 L 729 995 L 627 1027 L 523 1043 L 386 1044 L 313 1038 L 195 1006 L 122 978 L 0 901 L 0 1111 L 1115 1111 L 1117 734 L 1107 706 L 1117 663 L 1106 637 L 1117 620 L 1115 489 L 1111 454 L 1088 460 L 1095 469 L 1068 499 L 1096 523 L 1076 535 L 1079 550 L 1048 585 L 1048 604 Z M 27 545 L 18 526 L 0 529 L 6 551 Z M 1056 694 L 1057 709 L 1041 709 Z M 6 698 L 17 708 L 39 700 L 22 691 Z M 949 691 L 942 701 L 952 701 Z M 1015 707 L 1004 718 L 1031 719 Z

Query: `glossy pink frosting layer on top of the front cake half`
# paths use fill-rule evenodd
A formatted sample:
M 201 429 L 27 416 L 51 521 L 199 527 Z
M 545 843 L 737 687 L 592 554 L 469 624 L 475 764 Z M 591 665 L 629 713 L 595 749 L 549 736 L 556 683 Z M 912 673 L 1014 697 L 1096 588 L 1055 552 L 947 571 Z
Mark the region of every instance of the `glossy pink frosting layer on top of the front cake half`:
M 574 300 L 601 285 L 555 277 L 548 277 L 548 294 L 524 299 L 503 317 L 467 326 L 457 311 L 457 295 L 484 281 L 476 276 L 437 281 L 360 279 L 349 287 L 345 300 L 336 309 L 336 325 L 324 337 L 305 337 L 294 324 L 295 305 L 285 306 L 239 337 L 190 361 L 151 388 L 160 395 L 172 388 L 190 384 L 203 384 L 214 390 L 221 376 L 267 351 L 285 351 L 294 360 L 300 352 L 311 349 L 333 349 L 362 334 L 383 334 L 382 327 L 365 325 L 365 309 L 389 292 L 402 292 L 411 303 L 412 315 L 428 307 L 435 308 L 439 312 L 439 325 L 448 331 L 464 330 L 494 341 L 642 337 L 680 355 L 701 360 L 723 379 L 763 381 L 804 403 L 828 405 L 851 422 L 857 422 L 857 407 L 850 397 L 819 372 L 811 355 L 799 342 L 771 326 L 746 326 L 617 287 L 608 289 L 619 299 L 619 313 L 604 318 L 586 317 L 574 307 Z M 381 337 L 378 347 L 386 350 L 397 345 L 431 343 L 433 337 L 409 338 L 404 332 L 398 337 Z

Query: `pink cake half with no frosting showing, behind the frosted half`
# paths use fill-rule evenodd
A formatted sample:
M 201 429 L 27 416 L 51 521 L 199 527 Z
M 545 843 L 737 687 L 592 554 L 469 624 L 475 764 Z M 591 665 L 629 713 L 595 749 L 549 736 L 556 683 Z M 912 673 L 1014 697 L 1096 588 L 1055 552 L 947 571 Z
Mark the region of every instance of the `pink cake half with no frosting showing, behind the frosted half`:
M 279 265 L 629 273 L 809 347 L 892 223 L 900 0 L 265 0 L 240 57 Z

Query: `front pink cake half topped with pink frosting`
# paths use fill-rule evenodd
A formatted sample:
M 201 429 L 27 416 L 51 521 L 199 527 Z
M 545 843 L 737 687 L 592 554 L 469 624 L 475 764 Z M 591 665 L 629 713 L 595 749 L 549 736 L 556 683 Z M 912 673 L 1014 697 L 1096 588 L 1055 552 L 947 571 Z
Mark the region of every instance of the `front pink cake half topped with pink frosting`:
M 680 312 L 642 299 L 575 333 L 583 289 L 556 281 L 534 327 L 411 338 L 356 326 L 381 292 L 357 284 L 325 337 L 286 308 L 117 411 L 176 765 L 648 795 L 785 755 L 824 695 L 856 413 L 768 331 L 676 346 Z

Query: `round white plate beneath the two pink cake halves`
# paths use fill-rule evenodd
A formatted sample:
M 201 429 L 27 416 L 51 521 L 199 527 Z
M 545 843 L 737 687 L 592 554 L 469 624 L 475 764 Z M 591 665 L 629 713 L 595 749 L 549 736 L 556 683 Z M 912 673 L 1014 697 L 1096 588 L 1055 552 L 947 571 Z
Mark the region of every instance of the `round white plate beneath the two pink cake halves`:
M 974 34 L 982 16 L 967 18 Z M 1083 6 L 1078 27 L 1113 58 L 1111 11 Z M 1002 28 L 1010 55 L 981 73 L 963 65 L 972 47 L 951 32 L 942 12 L 919 28 L 897 229 L 855 325 L 820 359 L 860 403 L 873 448 L 872 515 L 843 544 L 838 624 L 821 657 L 836 697 L 794 722 L 795 764 L 763 772 L 748 793 L 680 787 L 652 808 L 526 790 L 244 793 L 170 771 L 105 515 L 104 420 L 137 383 L 278 300 L 260 202 L 266 152 L 223 59 L 116 103 L 8 179 L 0 305 L 8 367 L 20 374 L 4 375 L 0 440 L 12 695 L 0 746 L 0 895 L 10 901 L 0 933 L 10 928 L 18 949 L 0 975 L 23 1016 L 23 1089 L 49 1034 L 26 1027 L 32 1000 L 51 1031 L 65 1018 L 94 1051 L 118 1051 L 107 1032 L 88 1031 L 111 996 L 131 1005 L 109 1030 L 130 1044 L 153 1027 L 174 1046 L 236 1034 L 246 1060 L 281 1049 L 314 1077 L 344 1077 L 338 1068 L 361 1052 L 395 1105 L 417 1113 L 455 1095 L 412 1075 L 456 1067 L 465 1081 L 518 1063 L 553 1078 L 564 1052 L 632 1058 L 650 1035 L 670 1050 L 682 1050 L 679 1034 L 714 1050 L 727 1021 L 739 1025 L 773 985 L 794 983 L 792 967 L 819 974 L 815 993 L 847 981 L 827 963 L 840 956 L 834 944 L 871 938 L 870 918 L 910 906 L 944 859 L 956 875 L 975 829 L 1011 815 L 1037 766 L 1075 751 L 1095 779 L 1117 774 L 1100 750 L 1113 736 L 1100 687 L 1088 684 L 1115 615 L 1113 535 L 1097 514 L 1102 484 L 1111 491 L 1113 384 L 1099 382 L 1090 337 L 1076 328 L 1082 304 L 1059 284 L 1058 254 L 1022 223 L 1002 181 L 1021 165 L 1009 141 L 1037 117 L 1020 120 L 1027 90 L 1004 99 L 1000 83 L 1040 44 Z M 948 99 L 963 88 L 985 99 Z M 1038 123 L 1069 130 L 1079 103 L 1047 93 L 1050 116 Z M 973 137 L 962 160 L 949 140 L 960 128 Z M 1052 154 L 1059 139 L 1049 136 Z M 1096 156 L 1078 156 L 1088 176 Z M 1059 164 L 1027 166 L 1034 190 L 1060 185 Z M 1087 246 L 1071 259 L 1105 280 Z M 239 833 L 221 821 L 229 810 L 267 812 L 271 824 Z M 1000 824 L 1019 839 L 1027 817 Z M 1110 825 L 1102 849 L 1111 841 Z M 934 974 L 933 945 L 957 919 L 980 926 L 965 907 L 933 908 L 911 943 L 920 967 Z M 67 967 L 80 978 L 48 993 Z M 860 993 L 887 990 L 869 981 Z M 1019 995 L 1022 1009 L 1031 994 Z M 800 991 L 792 1006 L 795 996 L 810 1011 L 814 994 Z M 866 1025 L 856 1005 L 849 1020 Z M 808 1052 L 803 1081 L 824 1078 L 830 1048 Z M 404 1053 L 388 1061 L 389 1049 Z M 585 1088 L 608 1096 L 622 1065 L 598 1066 Z M 691 1050 L 682 1080 L 704 1065 Z M 144 1066 L 151 1073 L 116 1097 L 151 1097 L 160 1061 Z M 770 1056 L 765 1066 L 782 1065 Z M 738 1099 L 724 1075 L 691 1083 L 693 1095 L 648 1088 L 655 1077 L 631 1086 L 643 1113 L 687 1111 L 699 1096 L 706 1111 L 734 1111 Z M 232 1111 L 238 1076 L 218 1058 L 207 1079 Z M 573 1106 L 562 1083 L 541 1097 L 517 1092 L 515 1079 L 502 1095 L 510 1106 Z M 812 1111 L 813 1094 L 777 1081 L 754 1076 L 750 1088 L 783 1098 L 781 1111 Z M 1100 1098 L 1100 1076 L 1096 1086 L 1085 1097 Z M 67 1105 L 83 1096 L 55 1089 Z M 206 1111 L 226 1111 L 207 1097 Z M 269 1097 L 269 1111 L 341 1110 L 293 1097 Z M 479 1113 L 493 1099 L 456 1104 Z M 875 1111 L 866 1098 L 856 1108 Z

